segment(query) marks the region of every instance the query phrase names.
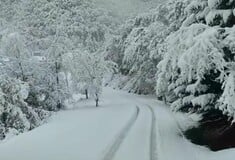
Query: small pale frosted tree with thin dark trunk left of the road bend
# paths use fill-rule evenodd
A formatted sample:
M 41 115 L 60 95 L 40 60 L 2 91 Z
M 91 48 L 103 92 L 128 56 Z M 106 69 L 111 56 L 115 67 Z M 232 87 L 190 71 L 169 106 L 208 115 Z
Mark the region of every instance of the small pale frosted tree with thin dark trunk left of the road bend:
M 97 53 L 75 51 L 64 58 L 64 66 L 80 87 L 80 92 L 87 98 L 92 96 L 98 106 L 104 75 L 112 72 L 115 65 Z

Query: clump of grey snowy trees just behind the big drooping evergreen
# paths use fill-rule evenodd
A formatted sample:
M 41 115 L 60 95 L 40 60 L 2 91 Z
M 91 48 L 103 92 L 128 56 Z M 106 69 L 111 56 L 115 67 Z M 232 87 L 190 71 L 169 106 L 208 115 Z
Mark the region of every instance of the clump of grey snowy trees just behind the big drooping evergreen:
M 160 48 L 164 50 L 165 38 L 181 26 L 186 4 L 188 1 L 170 1 L 128 20 L 108 44 L 107 59 L 116 62 L 121 74 L 128 77 L 122 88 L 139 94 L 155 92 Z

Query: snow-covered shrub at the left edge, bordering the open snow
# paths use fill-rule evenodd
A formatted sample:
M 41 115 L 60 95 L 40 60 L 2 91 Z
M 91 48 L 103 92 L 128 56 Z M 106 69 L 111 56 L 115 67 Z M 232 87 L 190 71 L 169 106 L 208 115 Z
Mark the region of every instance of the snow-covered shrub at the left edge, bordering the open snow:
M 29 106 L 27 83 L 10 78 L 0 77 L 0 138 L 15 130 L 16 133 L 31 130 L 49 116 L 49 112 Z

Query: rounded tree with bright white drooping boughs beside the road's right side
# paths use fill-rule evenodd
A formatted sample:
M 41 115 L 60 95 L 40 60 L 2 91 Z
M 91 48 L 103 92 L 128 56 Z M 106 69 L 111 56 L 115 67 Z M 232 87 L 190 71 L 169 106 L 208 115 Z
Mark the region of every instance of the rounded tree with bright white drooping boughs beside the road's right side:
M 216 29 L 204 24 L 194 24 L 170 35 L 167 53 L 158 65 L 157 95 L 167 92 L 177 95 L 176 101 L 174 96 L 168 97 L 168 101 L 174 101 L 172 106 L 176 110 L 189 105 L 202 109 L 210 103 L 213 105 L 214 94 L 221 92 L 219 83 L 226 66 L 221 40 Z M 210 91 L 208 85 L 217 84 L 218 90 Z

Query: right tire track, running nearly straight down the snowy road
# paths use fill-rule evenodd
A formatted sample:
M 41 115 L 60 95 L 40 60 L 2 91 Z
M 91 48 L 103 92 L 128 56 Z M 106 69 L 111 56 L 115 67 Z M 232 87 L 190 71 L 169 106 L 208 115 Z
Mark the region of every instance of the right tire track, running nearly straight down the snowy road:
M 153 108 L 147 106 L 152 114 L 152 126 L 150 135 L 150 160 L 158 160 L 157 154 L 157 133 L 156 133 L 156 116 L 154 114 Z

